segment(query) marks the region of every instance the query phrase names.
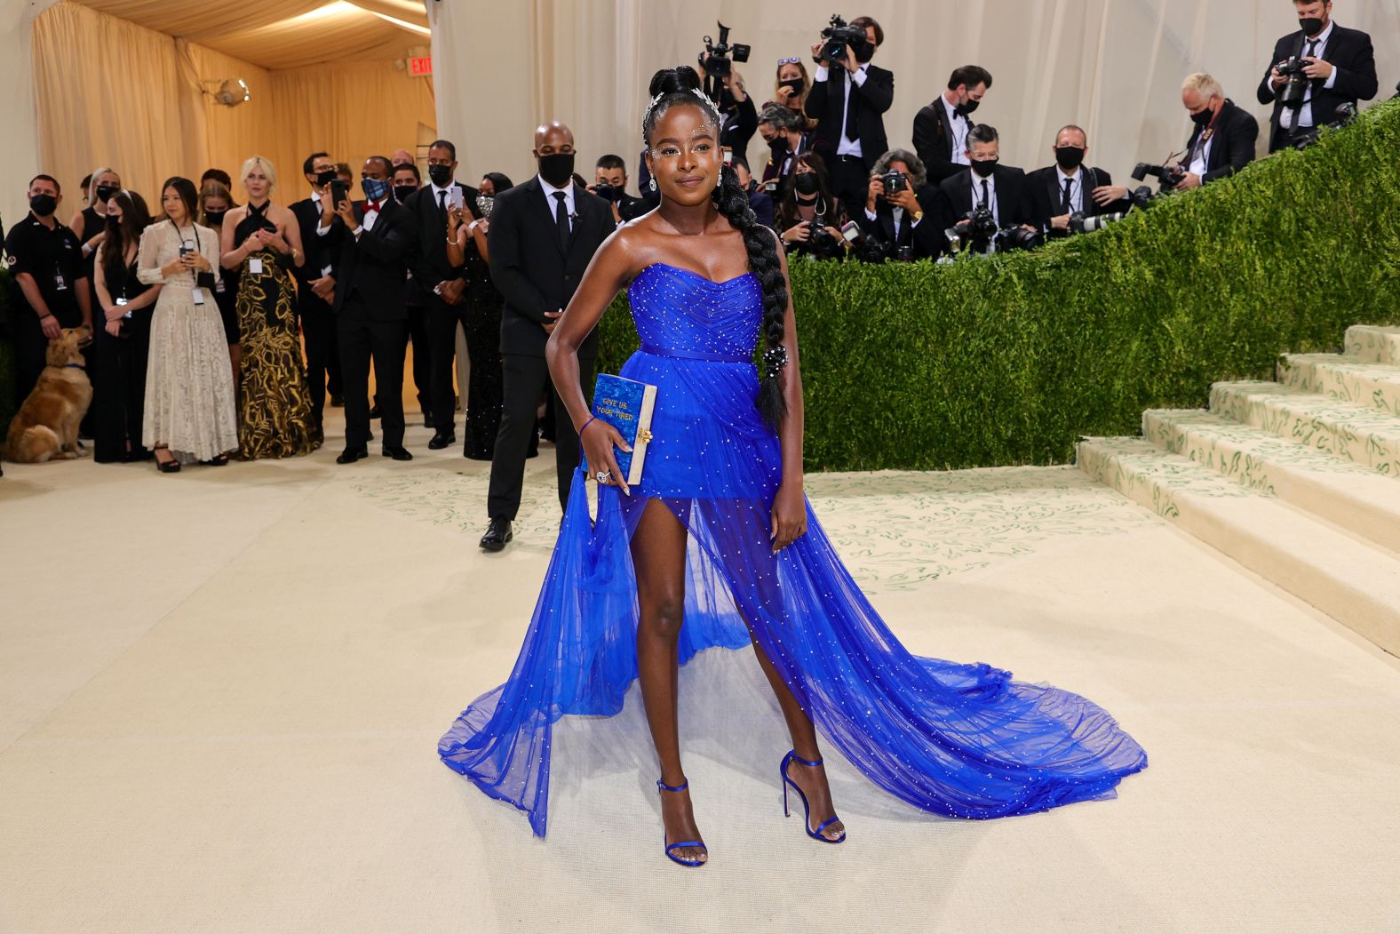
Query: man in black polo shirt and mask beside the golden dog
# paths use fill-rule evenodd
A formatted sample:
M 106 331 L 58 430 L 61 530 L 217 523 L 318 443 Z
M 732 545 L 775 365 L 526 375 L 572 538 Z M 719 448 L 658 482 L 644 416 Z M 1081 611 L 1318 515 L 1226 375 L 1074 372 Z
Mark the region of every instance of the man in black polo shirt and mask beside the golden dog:
M 62 202 L 59 183 L 50 175 L 35 175 L 29 182 L 29 216 L 10 228 L 4 241 L 14 279 L 11 328 L 20 400 L 43 371 L 49 340 L 63 328 L 92 328 L 83 248 L 55 217 Z

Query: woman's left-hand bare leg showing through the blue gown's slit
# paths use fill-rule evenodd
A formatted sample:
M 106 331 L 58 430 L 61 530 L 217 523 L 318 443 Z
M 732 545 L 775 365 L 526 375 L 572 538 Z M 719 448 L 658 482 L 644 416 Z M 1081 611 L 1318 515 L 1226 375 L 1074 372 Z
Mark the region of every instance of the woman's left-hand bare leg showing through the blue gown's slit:
M 666 508 L 651 500 L 631 539 L 631 563 L 637 571 L 637 672 L 647 725 L 661 760 L 661 780 L 676 787 L 686 783 L 680 767 L 680 731 L 676 716 L 679 665 L 676 643 L 686 604 L 686 528 Z M 661 793 L 661 819 L 666 843 L 699 840 L 689 791 Z M 706 860 L 700 847 L 676 850 L 682 860 Z

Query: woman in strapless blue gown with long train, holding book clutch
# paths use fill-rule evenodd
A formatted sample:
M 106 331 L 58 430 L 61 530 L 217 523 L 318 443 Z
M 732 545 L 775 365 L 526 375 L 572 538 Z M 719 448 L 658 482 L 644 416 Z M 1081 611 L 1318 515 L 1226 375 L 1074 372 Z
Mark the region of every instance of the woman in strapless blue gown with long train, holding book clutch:
M 510 679 L 442 737 L 442 760 L 545 835 L 552 725 L 608 716 L 641 682 L 665 854 L 708 858 L 680 759 L 678 665 L 752 644 L 792 739 L 784 800 L 840 843 L 818 734 L 871 781 L 958 818 L 1114 797 L 1147 766 L 1105 710 L 987 664 L 911 655 L 851 580 L 802 493 L 802 382 L 787 263 L 722 165 L 720 118 L 693 69 L 657 73 L 643 122 L 661 207 L 598 251 L 549 342 L 580 428 L 580 469 Z M 641 350 L 622 375 L 658 388 L 641 480 L 591 419 L 577 351 L 627 287 Z M 762 337 L 763 378 L 752 363 Z M 589 515 L 584 479 L 596 479 Z

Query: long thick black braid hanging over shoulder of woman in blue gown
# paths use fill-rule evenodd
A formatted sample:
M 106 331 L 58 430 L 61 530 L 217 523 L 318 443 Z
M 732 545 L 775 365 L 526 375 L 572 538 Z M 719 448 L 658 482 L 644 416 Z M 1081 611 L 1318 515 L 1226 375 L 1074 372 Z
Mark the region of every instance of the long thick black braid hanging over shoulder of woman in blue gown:
M 724 167 L 720 188 L 714 190 L 714 203 L 729 224 L 743 234 L 743 248 L 749 252 L 749 272 L 763 286 L 763 372 L 759 382 L 759 412 L 774 430 L 787 414 L 787 400 L 778 375 L 787 365 L 787 347 L 783 343 L 787 321 L 788 291 L 778 259 L 777 238 L 759 223 L 749 207 L 749 195 L 739 185 L 738 174 Z

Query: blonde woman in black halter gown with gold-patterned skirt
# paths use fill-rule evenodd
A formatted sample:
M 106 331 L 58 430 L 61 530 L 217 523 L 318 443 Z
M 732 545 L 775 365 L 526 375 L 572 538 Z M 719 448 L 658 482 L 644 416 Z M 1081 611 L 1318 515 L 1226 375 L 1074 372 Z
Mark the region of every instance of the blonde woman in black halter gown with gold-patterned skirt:
M 238 456 L 287 458 L 321 447 L 297 333 L 291 266 L 301 266 L 295 216 L 273 204 L 277 174 L 255 155 L 244 162 L 248 203 L 224 217 L 223 265 L 238 279 Z

